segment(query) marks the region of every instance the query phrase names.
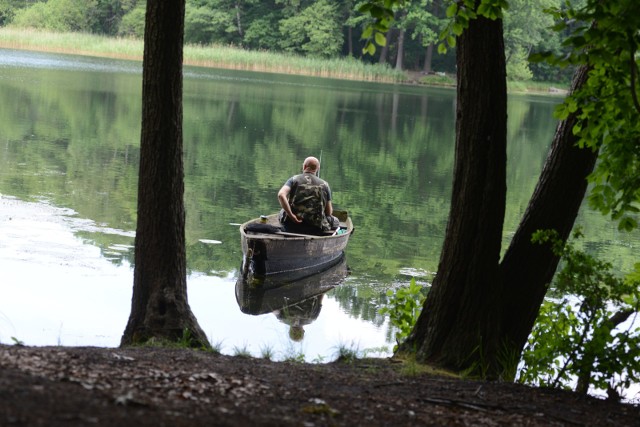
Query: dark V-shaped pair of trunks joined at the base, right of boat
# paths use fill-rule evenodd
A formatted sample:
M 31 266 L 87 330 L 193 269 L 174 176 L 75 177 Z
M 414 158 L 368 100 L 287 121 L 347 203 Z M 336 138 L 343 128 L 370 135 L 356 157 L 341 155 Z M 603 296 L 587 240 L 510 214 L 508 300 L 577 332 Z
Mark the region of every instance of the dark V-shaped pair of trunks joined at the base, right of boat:
M 492 135 L 483 124 L 489 126 L 486 122 L 491 121 L 491 115 L 487 116 L 486 111 L 495 109 L 501 97 L 496 95 L 497 83 L 493 83 L 494 90 L 488 86 L 478 88 L 470 86 L 469 76 L 476 77 L 478 86 L 488 85 L 480 71 L 481 64 L 496 58 L 488 57 L 492 49 L 487 46 L 495 44 L 494 51 L 503 49 L 495 34 L 478 31 L 476 25 L 486 24 L 481 19 L 471 22 L 476 21 L 458 42 L 456 165 L 438 275 L 422 314 L 400 351 L 415 351 L 419 361 L 455 371 L 480 368 L 479 374 L 496 378 L 504 368 L 500 363 L 509 362 L 499 360 L 499 352 L 522 352 L 559 261 L 548 245 L 532 244 L 531 236 L 536 230 L 554 229 L 563 240 L 567 239 L 597 152 L 576 146 L 572 129 L 579 112 L 559 123 L 538 185 L 498 267 L 498 219 L 501 221 L 504 214 L 498 205 L 504 207 L 504 199 L 503 190 L 492 186 L 503 185 L 506 158 L 501 144 L 491 142 L 499 133 Z M 482 38 L 486 43 L 475 40 Z M 471 59 L 469 56 L 474 54 L 477 57 Z M 498 72 L 485 65 L 489 75 Z M 586 67 L 578 69 L 572 91 L 581 87 L 587 77 Z M 483 93 L 495 99 L 482 105 Z M 506 112 L 498 111 L 495 123 L 502 128 Z M 478 135 L 476 141 L 474 134 Z

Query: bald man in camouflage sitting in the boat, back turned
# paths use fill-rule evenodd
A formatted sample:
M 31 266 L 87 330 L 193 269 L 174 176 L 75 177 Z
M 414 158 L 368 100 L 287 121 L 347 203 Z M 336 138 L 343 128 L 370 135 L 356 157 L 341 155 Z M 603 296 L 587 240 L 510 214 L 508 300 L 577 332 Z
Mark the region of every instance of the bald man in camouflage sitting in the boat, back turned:
M 292 176 L 278 191 L 280 223 L 290 233 L 323 235 L 340 226 L 334 217 L 331 204 L 331 188 L 318 177 L 320 162 L 307 157 L 302 163 L 302 173 Z

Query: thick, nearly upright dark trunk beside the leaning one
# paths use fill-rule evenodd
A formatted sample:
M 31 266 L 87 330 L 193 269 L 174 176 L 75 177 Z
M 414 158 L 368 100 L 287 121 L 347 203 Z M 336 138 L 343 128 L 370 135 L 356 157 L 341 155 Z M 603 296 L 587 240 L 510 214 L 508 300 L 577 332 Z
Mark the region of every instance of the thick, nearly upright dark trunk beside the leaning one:
M 424 309 L 400 351 L 460 371 L 492 366 L 500 330 L 507 88 L 502 21 L 471 20 L 458 38 L 456 160 L 445 242 Z

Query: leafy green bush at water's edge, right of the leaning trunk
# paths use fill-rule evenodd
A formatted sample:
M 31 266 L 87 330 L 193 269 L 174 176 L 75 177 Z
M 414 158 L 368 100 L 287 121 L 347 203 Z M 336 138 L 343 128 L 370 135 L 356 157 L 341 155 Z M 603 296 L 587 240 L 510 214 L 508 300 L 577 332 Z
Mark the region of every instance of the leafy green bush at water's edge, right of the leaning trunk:
M 542 305 L 524 349 L 519 381 L 583 394 L 594 387 L 618 398 L 640 380 L 640 328 L 633 326 L 640 264 L 620 278 L 610 263 L 563 245 L 554 231 L 538 232 L 534 241 L 551 243 L 564 267 L 555 281 L 558 296 Z

